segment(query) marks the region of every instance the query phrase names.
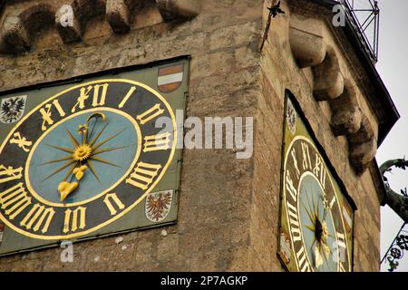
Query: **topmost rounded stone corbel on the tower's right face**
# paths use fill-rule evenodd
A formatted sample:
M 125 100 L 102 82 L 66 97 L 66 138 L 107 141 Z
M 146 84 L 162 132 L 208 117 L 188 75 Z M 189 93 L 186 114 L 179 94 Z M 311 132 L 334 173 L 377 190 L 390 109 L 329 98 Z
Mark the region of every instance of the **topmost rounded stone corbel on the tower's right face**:
M 325 60 L 323 37 L 290 27 L 289 42 L 299 68 L 315 66 Z

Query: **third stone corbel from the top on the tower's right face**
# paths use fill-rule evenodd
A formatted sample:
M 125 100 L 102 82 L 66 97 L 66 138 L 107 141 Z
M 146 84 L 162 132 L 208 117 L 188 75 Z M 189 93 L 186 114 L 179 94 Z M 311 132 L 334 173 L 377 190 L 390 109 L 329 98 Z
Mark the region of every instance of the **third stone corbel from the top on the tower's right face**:
M 362 111 L 357 101 L 355 87 L 345 80 L 345 91 L 330 101 L 331 126 L 335 136 L 355 134 L 360 130 Z

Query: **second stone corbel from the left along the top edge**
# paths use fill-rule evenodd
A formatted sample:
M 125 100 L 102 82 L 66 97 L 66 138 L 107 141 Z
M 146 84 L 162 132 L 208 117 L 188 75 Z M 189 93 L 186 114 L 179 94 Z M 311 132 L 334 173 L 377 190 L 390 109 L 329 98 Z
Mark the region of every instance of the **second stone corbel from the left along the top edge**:
M 77 42 L 82 38 L 81 24 L 78 21 L 78 17 L 74 14 L 71 5 L 64 5 L 57 10 L 55 14 L 55 27 L 63 43 Z

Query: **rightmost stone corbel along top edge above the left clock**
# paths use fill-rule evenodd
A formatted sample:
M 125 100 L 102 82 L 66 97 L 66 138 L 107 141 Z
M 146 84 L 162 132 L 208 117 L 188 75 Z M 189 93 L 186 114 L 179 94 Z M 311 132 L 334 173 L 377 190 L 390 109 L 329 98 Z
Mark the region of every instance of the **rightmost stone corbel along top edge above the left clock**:
M 202 9 L 200 0 L 156 0 L 156 4 L 166 22 L 193 18 Z

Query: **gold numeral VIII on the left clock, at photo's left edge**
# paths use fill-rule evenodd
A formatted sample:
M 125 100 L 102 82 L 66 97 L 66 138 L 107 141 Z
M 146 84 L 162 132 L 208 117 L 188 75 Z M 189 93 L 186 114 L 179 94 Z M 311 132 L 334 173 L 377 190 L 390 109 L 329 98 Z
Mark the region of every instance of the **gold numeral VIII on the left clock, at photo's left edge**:
M 14 219 L 25 208 L 31 205 L 31 198 L 27 197 L 27 191 L 23 183 L 18 183 L 10 189 L 0 193 L 1 208 L 5 209 L 8 218 Z

